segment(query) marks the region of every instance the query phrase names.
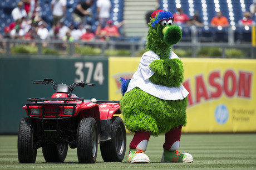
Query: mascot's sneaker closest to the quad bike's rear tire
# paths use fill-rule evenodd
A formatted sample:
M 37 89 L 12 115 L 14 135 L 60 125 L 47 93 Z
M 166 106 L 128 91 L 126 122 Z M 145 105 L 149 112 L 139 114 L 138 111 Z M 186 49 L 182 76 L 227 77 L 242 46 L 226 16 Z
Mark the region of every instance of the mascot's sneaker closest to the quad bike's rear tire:
M 149 157 L 143 151 L 130 150 L 127 158 L 128 163 L 149 163 Z

